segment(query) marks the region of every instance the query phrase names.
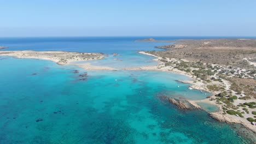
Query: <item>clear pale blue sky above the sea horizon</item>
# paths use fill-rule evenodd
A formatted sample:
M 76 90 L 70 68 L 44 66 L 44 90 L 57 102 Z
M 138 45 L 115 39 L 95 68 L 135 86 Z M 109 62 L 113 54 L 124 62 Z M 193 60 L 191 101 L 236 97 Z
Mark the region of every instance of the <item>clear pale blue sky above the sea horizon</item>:
M 0 37 L 256 36 L 255 0 L 0 0 Z

